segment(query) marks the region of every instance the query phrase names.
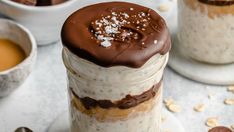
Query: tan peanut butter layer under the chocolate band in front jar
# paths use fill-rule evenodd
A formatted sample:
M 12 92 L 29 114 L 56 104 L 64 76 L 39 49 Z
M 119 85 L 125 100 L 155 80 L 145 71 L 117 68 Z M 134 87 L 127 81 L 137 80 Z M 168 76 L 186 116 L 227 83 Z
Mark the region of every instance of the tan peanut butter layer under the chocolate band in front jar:
M 156 96 L 154 96 L 150 100 L 128 109 L 120 109 L 114 107 L 105 109 L 99 106 L 96 106 L 95 108 L 92 109 L 87 109 L 82 104 L 81 100 L 78 99 L 76 96 L 74 96 L 72 92 L 70 92 L 71 107 L 75 107 L 75 109 L 78 110 L 79 112 L 92 116 L 100 122 L 125 120 L 130 117 L 135 117 L 140 113 L 149 112 L 150 110 L 153 109 L 153 107 L 157 107 L 156 105 L 160 105 L 161 103 L 160 99 L 162 96 L 161 90 L 162 89 L 160 87 L 158 92 L 156 93 Z

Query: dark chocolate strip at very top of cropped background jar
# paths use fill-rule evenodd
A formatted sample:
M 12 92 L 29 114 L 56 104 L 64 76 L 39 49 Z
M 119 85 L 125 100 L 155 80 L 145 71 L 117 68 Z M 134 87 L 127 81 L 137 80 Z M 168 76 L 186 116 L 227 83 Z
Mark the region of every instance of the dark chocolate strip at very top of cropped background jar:
M 230 6 L 234 5 L 234 0 L 198 0 L 201 3 L 215 6 Z

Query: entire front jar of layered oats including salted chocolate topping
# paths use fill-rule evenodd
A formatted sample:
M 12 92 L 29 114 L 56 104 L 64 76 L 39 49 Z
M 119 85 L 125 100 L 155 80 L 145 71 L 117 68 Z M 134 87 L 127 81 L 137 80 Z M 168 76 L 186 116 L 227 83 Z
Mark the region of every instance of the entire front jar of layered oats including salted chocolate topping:
M 155 11 L 125 2 L 73 13 L 62 28 L 71 132 L 160 132 L 171 47 Z

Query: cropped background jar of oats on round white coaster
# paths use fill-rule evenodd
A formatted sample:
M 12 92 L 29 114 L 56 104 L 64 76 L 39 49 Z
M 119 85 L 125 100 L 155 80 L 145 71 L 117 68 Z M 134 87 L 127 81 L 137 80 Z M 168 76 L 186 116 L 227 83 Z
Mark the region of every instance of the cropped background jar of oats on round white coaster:
M 178 47 L 195 60 L 234 62 L 234 0 L 179 0 Z

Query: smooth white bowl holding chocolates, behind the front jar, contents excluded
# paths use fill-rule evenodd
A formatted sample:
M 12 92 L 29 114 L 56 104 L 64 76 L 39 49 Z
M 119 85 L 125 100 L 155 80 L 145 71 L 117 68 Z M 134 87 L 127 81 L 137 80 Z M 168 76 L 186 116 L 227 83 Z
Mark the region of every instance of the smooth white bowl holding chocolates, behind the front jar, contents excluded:
M 0 13 L 27 27 L 35 36 L 38 45 L 47 45 L 60 40 L 62 24 L 78 6 L 79 0 L 40 7 L 0 0 Z

